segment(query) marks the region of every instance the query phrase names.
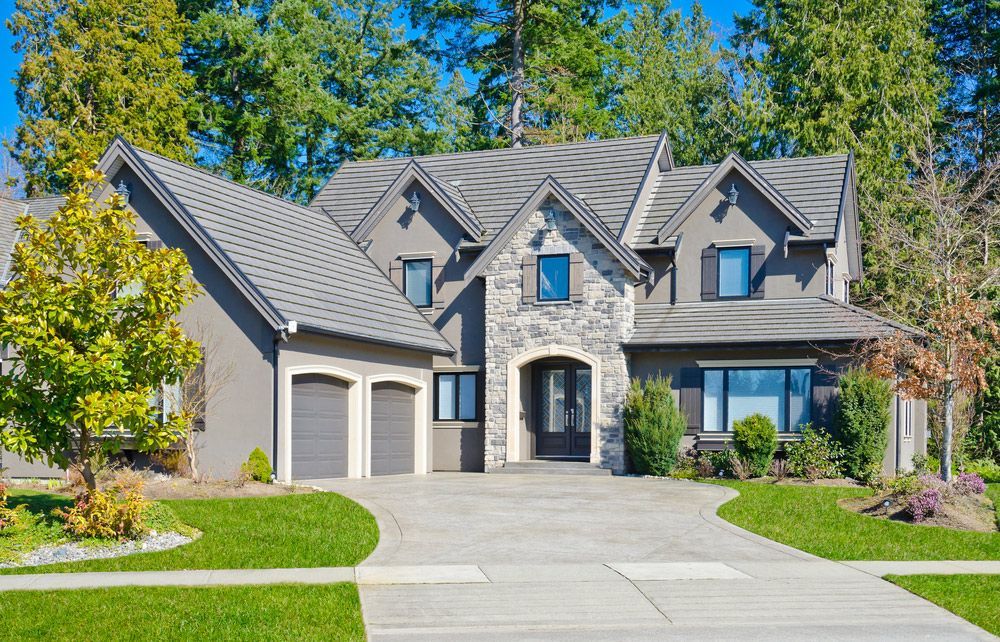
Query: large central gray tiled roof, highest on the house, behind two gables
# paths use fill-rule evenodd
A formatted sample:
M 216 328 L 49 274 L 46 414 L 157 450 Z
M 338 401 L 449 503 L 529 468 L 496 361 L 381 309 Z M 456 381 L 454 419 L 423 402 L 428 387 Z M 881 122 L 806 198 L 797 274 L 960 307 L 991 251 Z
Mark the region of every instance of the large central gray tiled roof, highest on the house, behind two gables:
M 419 162 L 434 177 L 461 191 L 464 202 L 486 228 L 483 240 L 496 234 L 550 175 L 586 201 L 617 234 L 659 139 L 642 136 L 438 154 L 421 156 Z M 311 206 L 324 208 L 353 232 L 410 161 L 344 163 Z

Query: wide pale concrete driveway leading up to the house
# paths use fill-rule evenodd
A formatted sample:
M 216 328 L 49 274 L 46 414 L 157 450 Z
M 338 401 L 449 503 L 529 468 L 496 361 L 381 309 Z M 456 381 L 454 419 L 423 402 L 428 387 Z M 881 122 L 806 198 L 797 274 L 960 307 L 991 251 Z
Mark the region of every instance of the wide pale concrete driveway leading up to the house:
M 311 482 L 375 515 L 371 639 L 994 639 L 878 578 L 732 526 L 733 491 L 630 477 Z M 365 579 L 367 578 L 367 579 Z

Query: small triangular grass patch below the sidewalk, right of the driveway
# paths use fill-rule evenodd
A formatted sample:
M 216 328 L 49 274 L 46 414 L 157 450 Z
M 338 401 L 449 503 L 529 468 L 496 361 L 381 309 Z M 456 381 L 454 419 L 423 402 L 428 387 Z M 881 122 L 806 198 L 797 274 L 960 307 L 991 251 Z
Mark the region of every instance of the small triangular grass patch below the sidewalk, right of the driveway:
M 1000 635 L 1000 575 L 887 575 L 885 579 Z

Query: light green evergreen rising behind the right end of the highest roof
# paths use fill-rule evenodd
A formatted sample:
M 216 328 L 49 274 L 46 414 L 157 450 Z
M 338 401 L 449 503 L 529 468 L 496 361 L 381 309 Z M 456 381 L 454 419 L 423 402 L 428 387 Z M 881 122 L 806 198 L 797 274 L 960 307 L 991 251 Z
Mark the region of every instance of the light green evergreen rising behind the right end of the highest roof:
M 725 54 L 698 2 L 687 16 L 669 0 L 638 3 L 614 47 L 616 133 L 666 131 L 679 165 L 716 162 L 732 151 Z

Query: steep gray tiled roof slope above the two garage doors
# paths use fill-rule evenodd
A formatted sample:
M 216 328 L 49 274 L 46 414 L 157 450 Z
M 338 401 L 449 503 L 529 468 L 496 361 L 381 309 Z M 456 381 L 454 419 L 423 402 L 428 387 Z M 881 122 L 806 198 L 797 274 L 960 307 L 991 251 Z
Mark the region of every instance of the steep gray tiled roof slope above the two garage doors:
M 326 214 L 118 142 L 300 330 L 454 352 Z

